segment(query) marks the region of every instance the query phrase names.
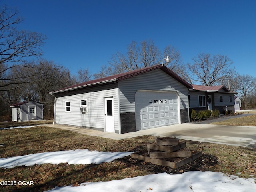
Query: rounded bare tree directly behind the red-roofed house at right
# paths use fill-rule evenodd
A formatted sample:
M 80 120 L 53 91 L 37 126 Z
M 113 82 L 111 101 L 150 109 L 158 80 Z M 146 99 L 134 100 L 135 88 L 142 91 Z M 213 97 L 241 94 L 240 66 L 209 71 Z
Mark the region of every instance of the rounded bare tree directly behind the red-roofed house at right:
M 194 63 L 188 64 L 188 70 L 196 76 L 195 81 L 205 86 L 219 84 L 236 74 L 236 70 L 232 68 L 233 62 L 227 55 L 200 53 L 192 60 Z

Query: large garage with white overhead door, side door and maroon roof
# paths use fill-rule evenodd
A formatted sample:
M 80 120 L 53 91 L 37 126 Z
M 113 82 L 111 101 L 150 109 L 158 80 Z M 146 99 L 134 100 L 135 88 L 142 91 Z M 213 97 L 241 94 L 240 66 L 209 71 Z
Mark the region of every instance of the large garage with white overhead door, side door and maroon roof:
M 192 88 L 163 65 L 91 80 L 50 92 L 54 124 L 122 134 L 189 122 Z

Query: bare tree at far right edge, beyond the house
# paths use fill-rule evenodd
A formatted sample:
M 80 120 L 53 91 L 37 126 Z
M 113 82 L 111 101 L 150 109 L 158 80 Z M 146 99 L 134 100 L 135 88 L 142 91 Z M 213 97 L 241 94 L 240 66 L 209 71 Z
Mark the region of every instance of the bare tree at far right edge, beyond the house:
M 244 106 L 247 107 L 247 99 L 250 94 L 256 91 L 256 78 L 250 75 L 236 76 L 236 92 L 244 101 Z

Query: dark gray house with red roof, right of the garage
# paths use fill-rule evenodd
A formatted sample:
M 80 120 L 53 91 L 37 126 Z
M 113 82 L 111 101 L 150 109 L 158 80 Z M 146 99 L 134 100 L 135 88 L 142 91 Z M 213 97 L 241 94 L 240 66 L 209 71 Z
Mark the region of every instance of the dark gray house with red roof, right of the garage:
M 189 106 L 196 112 L 200 110 L 218 110 L 220 114 L 225 111 L 235 112 L 234 94 L 224 85 L 202 86 L 192 85 L 193 89 L 189 90 Z

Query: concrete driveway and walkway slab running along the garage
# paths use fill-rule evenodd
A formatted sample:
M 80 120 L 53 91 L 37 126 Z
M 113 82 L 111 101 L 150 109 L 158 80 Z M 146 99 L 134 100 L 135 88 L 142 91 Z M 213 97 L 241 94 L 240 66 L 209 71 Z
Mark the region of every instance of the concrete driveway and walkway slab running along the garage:
M 99 136 L 110 139 L 126 139 L 143 135 L 152 136 L 175 136 L 179 139 L 212 142 L 219 144 L 244 146 L 256 148 L 256 127 L 254 126 L 227 126 L 227 125 L 211 125 L 211 124 L 196 124 L 183 123 L 158 128 L 140 130 L 125 134 L 116 134 L 110 132 L 102 132 L 86 128 L 78 128 L 72 126 L 47 124 L 44 126 L 60 128 L 64 130 L 74 131 L 80 134 L 90 136 Z

